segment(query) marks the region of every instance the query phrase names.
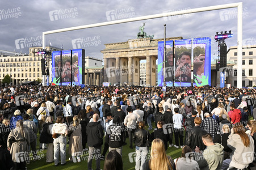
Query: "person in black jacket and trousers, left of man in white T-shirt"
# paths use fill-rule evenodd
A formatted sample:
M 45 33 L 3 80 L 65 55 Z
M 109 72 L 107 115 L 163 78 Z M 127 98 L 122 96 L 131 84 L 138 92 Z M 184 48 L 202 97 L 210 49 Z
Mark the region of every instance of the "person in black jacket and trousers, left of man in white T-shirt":
M 168 129 L 168 135 L 169 135 L 169 147 L 174 146 L 173 145 L 173 113 L 171 113 L 171 109 L 168 108 L 165 113 L 163 113 L 163 117 L 161 118 L 161 121 L 163 121 L 163 124 L 169 124 L 171 126 L 171 129 Z M 166 126 L 167 127 L 167 126 Z

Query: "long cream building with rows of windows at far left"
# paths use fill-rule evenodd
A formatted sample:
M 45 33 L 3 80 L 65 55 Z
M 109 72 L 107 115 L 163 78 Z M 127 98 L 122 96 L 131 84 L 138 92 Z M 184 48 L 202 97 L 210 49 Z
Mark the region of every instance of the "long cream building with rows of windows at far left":
M 61 50 L 53 46 L 47 46 L 46 50 Z M 10 52 L 13 55 L 6 55 L 9 52 L 1 53 L 0 57 L 0 79 L 7 74 L 10 75 L 12 85 L 22 84 L 27 81 L 34 81 L 37 79 L 42 79 L 41 73 L 41 54 L 36 54 L 38 50 L 41 50 L 41 47 L 32 47 L 30 48 L 30 54 L 16 55 Z M 51 70 L 52 58 L 48 57 L 46 60 L 46 65 L 49 66 Z M 51 74 L 49 75 L 49 81 L 51 82 Z

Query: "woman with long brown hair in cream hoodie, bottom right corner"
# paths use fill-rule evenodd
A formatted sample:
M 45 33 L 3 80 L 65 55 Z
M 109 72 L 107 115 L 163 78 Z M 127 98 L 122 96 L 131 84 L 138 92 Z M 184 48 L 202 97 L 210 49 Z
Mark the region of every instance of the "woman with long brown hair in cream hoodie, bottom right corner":
M 234 124 L 228 137 L 228 147 L 232 149 L 231 159 L 225 159 L 221 169 L 247 168 L 254 160 L 254 140 L 245 133 L 242 123 Z

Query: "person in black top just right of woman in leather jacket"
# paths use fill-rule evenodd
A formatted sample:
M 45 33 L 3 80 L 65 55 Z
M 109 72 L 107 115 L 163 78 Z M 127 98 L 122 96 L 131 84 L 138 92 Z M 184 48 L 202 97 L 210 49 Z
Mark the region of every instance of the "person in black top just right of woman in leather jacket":
M 158 121 L 157 122 L 157 130 L 155 130 L 151 135 L 150 135 L 150 141 L 153 141 L 154 139 L 161 139 L 163 141 L 163 144 L 165 145 L 165 150 L 167 150 L 168 146 L 167 143 L 169 141 L 169 135 L 163 133 L 163 122 Z

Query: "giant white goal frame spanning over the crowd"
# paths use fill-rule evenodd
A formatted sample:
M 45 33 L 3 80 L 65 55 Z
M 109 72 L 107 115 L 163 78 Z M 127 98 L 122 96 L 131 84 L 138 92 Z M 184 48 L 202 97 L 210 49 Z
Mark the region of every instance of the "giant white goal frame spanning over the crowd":
M 221 10 L 221 9 L 225 9 L 225 8 L 235 8 L 235 7 L 237 7 L 237 87 L 242 88 L 242 2 L 194 8 L 194 9 L 182 10 L 182 11 L 165 12 L 162 14 L 139 16 L 136 18 L 113 20 L 110 22 L 81 25 L 81 26 L 77 26 L 77 27 L 69 27 L 69 28 L 56 29 L 56 30 L 52 30 L 52 31 L 46 31 L 46 32 L 43 32 L 43 49 L 45 49 L 45 35 L 52 34 L 52 33 L 73 31 L 73 30 L 77 30 L 77 29 L 85 29 L 85 28 L 93 28 L 93 27 L 102 27 L 102 26 L 106 26 L 106 25 L 135 22 L 135 21 L 139 21 L 139 20 L 155 19 L 155 18 L 162 18 L 162 17 L 166 17 L 166 16 L 191 14 L 191 13 L 196 13 L 196 12 Z M 45 75 L 43 75 L 43 86 L 45 86 Z

